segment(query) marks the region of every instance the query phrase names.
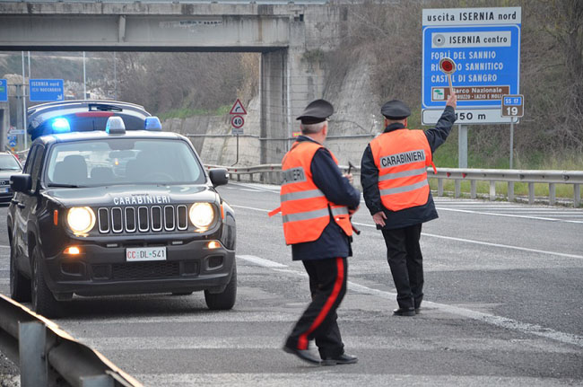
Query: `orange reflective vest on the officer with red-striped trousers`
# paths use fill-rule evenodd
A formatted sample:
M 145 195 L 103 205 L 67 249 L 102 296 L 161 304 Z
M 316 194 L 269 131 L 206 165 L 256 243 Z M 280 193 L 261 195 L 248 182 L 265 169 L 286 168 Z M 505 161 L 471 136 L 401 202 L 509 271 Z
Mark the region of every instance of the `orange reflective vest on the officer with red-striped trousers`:
M 330 223 L 330 212 L 344 233 L 352 235 L 348 207 L 329 201 L 312 180 L 310 165 L 314 154 L 322 147 L 311 141 L 296 142 L 283 157 L 280 198 L 283 234 L 287 244 L 316 241 Z M 337 165 L 334 154 L 332 158 Z M 276 212 L 274 210 L 270 215 Z

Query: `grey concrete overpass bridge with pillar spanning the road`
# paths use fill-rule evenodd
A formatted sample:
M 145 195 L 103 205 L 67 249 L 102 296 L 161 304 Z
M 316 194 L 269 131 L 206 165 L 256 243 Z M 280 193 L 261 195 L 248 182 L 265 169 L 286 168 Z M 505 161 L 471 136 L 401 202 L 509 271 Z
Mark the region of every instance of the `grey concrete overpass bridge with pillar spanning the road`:
M 278 163 L 293 118 L 324 92 L 323 70 L 305 53 L 333 48 L 343 17 L 343 6 L 317 1 L 0 1 L 0 50 L 259 52 L 260 137 L 270 139 L 260 160 Z

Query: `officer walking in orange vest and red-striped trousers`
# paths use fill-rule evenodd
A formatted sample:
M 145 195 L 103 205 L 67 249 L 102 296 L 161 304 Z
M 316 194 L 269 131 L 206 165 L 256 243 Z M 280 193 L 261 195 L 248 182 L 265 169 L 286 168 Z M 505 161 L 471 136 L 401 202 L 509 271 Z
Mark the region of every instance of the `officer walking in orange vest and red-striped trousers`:
M 352 256 L 350 215 L 359 207 L 361 193 L 352 187 L 352 175 L 343 175 L 334 154 L 322 145 L 333 113 L 329 102 L 317 100 L 298 117 L 301 136 L 282 161 L 282 206 L 270 213 L 281 209 L 285 242 L 292 245 L 292 259 L 301 260 L 306 268 L 312 295 L 283 350 L 321 365 L 358 360 L 344 353 L 336 309 L 346 293 L 346 258 Z M 312 339 L 319 358 L 309 351 Z

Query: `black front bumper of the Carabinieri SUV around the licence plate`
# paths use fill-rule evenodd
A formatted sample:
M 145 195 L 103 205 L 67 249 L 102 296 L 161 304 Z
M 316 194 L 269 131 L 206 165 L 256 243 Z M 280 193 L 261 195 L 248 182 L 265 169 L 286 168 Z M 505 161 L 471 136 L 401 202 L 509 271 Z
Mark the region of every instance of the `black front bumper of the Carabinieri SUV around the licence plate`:
M 231 279 L 235 251 L 219 242 L 208 248 L 209 240 L 166 247 L 165 260 L 127 262 L 127 246 L 75 244 L 78 255 L 59 253 L 42 259 L 48 288 L 56 294 L 135 295 L 148 293 L 221 292 Z M 116 244 L 116 243 L 114 243 Z

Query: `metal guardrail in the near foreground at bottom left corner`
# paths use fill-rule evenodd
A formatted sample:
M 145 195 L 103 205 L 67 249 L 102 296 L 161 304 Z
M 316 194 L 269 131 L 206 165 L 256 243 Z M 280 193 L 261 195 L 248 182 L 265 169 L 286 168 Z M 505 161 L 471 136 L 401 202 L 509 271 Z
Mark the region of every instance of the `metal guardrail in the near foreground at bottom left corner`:
M 98 351 L 57 324 L 0 295 L 0 349 L 20 365 L 22 387 L 142 387 Z

